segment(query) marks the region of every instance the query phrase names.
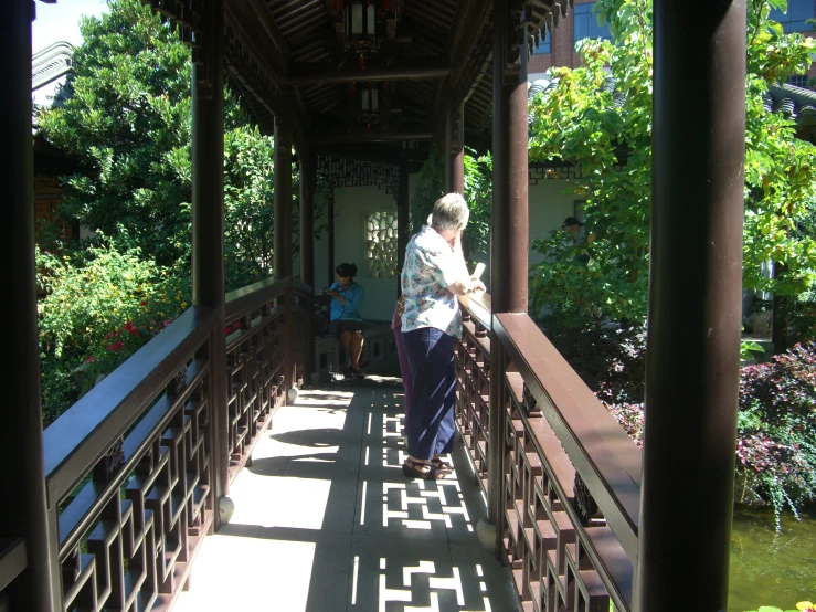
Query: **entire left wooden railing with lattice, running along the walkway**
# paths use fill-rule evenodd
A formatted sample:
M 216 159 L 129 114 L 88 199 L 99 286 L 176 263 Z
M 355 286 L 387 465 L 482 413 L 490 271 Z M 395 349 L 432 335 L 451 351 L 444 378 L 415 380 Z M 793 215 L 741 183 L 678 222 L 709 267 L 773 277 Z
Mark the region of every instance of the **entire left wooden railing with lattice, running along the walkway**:
M 190 308 L 45 430 L 55 609 L 171 606 L 214 525 L 218 457 L 232 479 L 303 380 L 311 288 L 286 278 L 226 299 L 225 362 L 212 358 L 224 319 Z M 215 368 L 226 368 L 223 423 Z

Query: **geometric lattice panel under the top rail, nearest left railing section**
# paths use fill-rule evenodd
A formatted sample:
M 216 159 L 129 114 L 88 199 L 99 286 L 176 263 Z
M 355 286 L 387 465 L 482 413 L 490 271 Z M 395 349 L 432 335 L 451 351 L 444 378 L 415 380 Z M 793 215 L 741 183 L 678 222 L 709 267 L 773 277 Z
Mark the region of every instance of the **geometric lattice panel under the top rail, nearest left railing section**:
M 65 610 L 166 606 L 188 579 L 213 518 L 208 384 L 204 359 L 179 370 L 70 496 L 59 516 Z

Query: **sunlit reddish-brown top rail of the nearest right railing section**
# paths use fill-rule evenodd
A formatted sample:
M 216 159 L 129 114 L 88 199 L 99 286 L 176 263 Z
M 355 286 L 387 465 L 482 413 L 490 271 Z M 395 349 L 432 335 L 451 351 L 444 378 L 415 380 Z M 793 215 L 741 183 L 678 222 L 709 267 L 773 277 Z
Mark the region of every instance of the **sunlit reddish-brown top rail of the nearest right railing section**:
M 640 449 L 527 314 L 495 315 L 494 331 L 636 564 Z

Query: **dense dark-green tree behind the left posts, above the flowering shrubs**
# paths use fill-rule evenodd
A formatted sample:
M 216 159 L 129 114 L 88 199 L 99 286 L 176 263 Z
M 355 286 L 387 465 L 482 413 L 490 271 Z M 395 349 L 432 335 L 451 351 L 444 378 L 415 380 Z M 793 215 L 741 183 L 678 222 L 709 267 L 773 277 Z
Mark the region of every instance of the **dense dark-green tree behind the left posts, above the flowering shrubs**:
M 139 0 L 108 0 L 108 8 L 100 19 L 82 19 L 73 92 L 38 118 L 42 133 L 83 163 L 65 178 L 60 212 L 187 273 L 190 49 Z M 224 242 L 235 288 L 272 272 L 274 146 L 229 88 L 224 106 Z

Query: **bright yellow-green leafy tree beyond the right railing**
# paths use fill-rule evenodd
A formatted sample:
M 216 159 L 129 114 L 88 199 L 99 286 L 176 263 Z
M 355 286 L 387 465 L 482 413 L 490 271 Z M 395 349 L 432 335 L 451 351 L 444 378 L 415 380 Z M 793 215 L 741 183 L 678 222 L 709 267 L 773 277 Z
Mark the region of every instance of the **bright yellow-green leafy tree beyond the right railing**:
M 771 84 L 810 65 L 816 45 L 784 34 L 769 20 L 784 0 L 751 0 L 745 122 L 745 288 L 797 295 L 816 281 L 816 243 L 801 226 L 816 193 L 816 148 L 796 138 L 794 123 L 769 112 Z M 579 43 L 582 65 L 553 71 L 555 83 L 530 105 L 532 161 L 561 160 L 581 169 L 570 191 L 585 198 L 587 241 L 554 233 L 534 246 L 548 257 L 532 271 L 533 305 L 570 303 L 643 321 L 646 317 L 651 208 L 651 3 L 598 0 L 598 20 L 615 44 Z M 614 87 L 612 86 L 614 84 Z M 581 253 L 579 253 L 581 252 Z M 576 254 L 589 254 L 586 265 Z M 765 261 L 784 274 L 766 278 Z

